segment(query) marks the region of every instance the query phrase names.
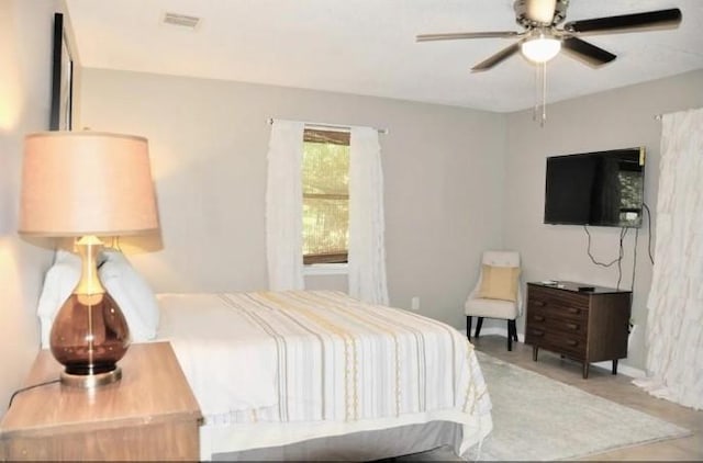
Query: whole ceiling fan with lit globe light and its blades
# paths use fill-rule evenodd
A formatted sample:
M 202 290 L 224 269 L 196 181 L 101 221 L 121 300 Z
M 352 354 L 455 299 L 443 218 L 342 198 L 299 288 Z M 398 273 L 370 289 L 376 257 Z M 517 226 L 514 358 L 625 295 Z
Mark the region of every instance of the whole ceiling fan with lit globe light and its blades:
M 617 16 L 570 21 L 557 27 L 566 19 L 569 0 L 516 0 L 513 4 L 515 21 L 523 31 L 459 32 L 417 35 L 417 42 L 453 41 L 466 38 L 517 38 L 471 68 L 472 72 L 491 69 L 517 52 L 534 63 L 546 63 L 561 48 L 570 56 L 593 67 L 615 59 L 615 55 L 581 39 L 581 36 L 638 32 L 645 30 L 674 29 L 681 22 L 681 10 L 648 11 Z

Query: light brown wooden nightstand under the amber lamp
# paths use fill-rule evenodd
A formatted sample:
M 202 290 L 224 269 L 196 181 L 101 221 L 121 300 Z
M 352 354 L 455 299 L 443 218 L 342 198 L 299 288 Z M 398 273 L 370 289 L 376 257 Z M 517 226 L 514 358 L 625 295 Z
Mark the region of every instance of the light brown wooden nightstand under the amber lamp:
M 53 383 L 20 393 L 0 425 L 0 460 L 199 460 L 202 416 L 171 346 L 133 345 L 119 364 L 122 380 L 93 391 Z M 26 385 L 60 371 L 43 350 Z

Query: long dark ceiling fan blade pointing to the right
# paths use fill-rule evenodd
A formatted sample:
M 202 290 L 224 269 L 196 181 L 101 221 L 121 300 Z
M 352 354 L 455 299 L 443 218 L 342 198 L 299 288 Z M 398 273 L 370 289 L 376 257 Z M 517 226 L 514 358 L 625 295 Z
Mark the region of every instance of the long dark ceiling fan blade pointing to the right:
M 681 22 L 681 10 L 649 11 L 646 13 L 623 14 L 621 16 L 594 18 L 592 20 L 570 21 L 563 25 L 567 32 L 579 33 L 618 33 L 646 29 L 673 29 Z

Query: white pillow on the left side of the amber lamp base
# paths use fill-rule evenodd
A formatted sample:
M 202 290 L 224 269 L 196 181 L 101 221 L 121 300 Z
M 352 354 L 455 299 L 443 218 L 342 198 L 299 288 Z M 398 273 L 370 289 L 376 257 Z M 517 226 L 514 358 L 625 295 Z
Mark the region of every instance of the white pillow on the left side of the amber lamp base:
M 36 307 L 42 330 L 42 348 L 49 347 L 49 336 L 54 317 L 62 304 L 74 292 L 80 280 L 80 257 L 72 252 L 58 249 L 54 258 L 54 264 L 46 271 L 44 286 Z

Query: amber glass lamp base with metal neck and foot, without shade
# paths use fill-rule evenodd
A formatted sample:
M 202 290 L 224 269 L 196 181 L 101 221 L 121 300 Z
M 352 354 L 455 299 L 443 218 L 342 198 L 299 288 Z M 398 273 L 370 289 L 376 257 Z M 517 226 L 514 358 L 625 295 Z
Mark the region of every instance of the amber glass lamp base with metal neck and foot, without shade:
M 116 363 L 130 347 L 126 319 L 97 280 L 96 250 L 90 248 L 81 252 L 81 282 L 59 308 L 49 338 L 54 358 L 65 366 L 62 384 L 87 388 L 119 381 Z

